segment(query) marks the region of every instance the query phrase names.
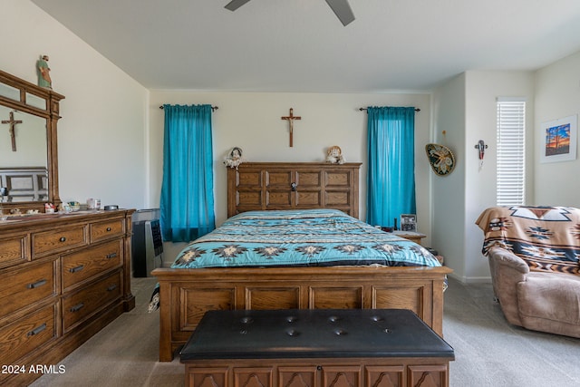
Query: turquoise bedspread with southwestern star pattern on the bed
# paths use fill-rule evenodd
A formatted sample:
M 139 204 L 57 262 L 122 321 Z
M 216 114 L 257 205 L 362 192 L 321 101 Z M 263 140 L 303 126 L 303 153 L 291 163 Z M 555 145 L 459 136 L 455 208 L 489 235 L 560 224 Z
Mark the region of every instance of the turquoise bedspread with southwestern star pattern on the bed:
M 420 245 L 342 211 L 249 211 L 184 248 L 171 267 L 440 266 Z

